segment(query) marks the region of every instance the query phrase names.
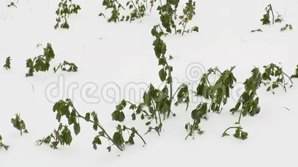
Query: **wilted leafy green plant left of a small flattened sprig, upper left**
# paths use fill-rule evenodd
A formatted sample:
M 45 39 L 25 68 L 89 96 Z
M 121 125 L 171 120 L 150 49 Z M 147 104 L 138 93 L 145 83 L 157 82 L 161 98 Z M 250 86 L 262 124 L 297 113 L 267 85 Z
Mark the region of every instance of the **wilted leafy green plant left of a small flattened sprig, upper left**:
M 31 58 L 26 60 L 26 67 L 29 68 L 28 73 L 26 73 L 26 77 L 33 76 L 33 72 L 39 71 L 48 71 L 50 67 L 50 60 L 55 57 L 54 51 L 52 49 L 51 44 L 47 44 L 47 47 L 44 48 L 44 54 L 34 57 L 33 60 Z

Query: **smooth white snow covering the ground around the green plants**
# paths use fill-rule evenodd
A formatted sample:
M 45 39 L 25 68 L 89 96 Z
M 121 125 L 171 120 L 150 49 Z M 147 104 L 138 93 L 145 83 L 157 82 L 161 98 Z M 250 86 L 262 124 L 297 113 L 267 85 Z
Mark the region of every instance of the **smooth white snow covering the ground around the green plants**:
M 104 141 L 95 151 L 91 142 L 97 133 L 88 122 L 81 122 L 81 133 L 73 135 L 70 146 L 58 150 L 45 144 L 36 146 L 36 140 L 58 127 L 52 112 L 53 101 L 70 97 L 81 113 L 97 111 L 103 126 L 112 133 L 118 124 L 110 116 L 116 103 L 122 98 L 134 100 L 133 93 L 129 94 L 131 88 L 135 88 L 139 102 L 138 91 L 144 85 L 150 82 L 160 85 L 160 67 L 150 34 L 159 23 L 157 4 L 141 22 L 114 24 L 98 16 L 100 12 L 108 13 L 101 1 L 73 2 L 82 10 L 69 17 L 69 30 L 53 28 L 58 0 L 20 0 L 17 8 L 7 8 L 8 0 L 0 2 L 1 66 L 6 57 L 12 59 L 11 70 L 0 68 L 0 133 L 3 142 L 10 145 L 8 151 L 0 149 L 0 166 L 297 165 L 297 79 L 293 79 L 294 86 L 287 93 L 278 89 L 273 95 L 264 86 L 258 90 L 261 112 L 241 120 L 241 126 L 249 133 L 248 139 L 221 137 L 238 118 L 238 113 L 231 115 L 229 110 L 243 91 L 241 82 L 250 76 L 253 66 L 262 69 L 271 62 L 281 62 L 286 73 L 294 73 L 298 63 L 296 0 L 197 0 L 196 15 L 190 25 L 197 25 L 199 33 L 164 38 L 167 54 L 175 57 L 170 61 L 175 82 L 191 82 L 193 90 L 202 72 L 210 67 L 225 70 L 236 66 L 237 83 L 232 98 L 220 115 L 210 113 L 208 120 L 202 120 L 200 127 L 206 131 L 203 135 L 184 140 L 187 135 L 184 124 L 191 121 L 190 112 L 199 102 L 199 98 L 192 97 L 189 111 L 185 112 L 184 105 L 173 107 L 177 116 L 164 121 L 161 136 L 154 132 L 143 136 L 147 142 L 144 147 L 136 139 L 136 144 L 127 145 L 124 152 L 113 148 L 108 153 L 108 143 Z M 184 3 L 181 1 L 181 6 Z M 285 22 L 262 26 L 259 19 L 269 3 L 284 16 Z M 281 32 L 280 28 L 288 23 L 293 30 Z M 251 33 L 258 28 L 264 32 Z M 43 46 L 51 43 L 56 57 L 51 61 L 50 71 L 25 77 L 26 59 L 42 53 L 42 47 L 35 47 L 38 43 Z M 63 60 L 75 62 L 79 71 L 54 74 L 53 66 Z M 53 89 L 55 84 L 59 91 Z M 56 97 L 49 95 L 52 89 Z M 29 134 L 20 136 L 10 123 L 16 112 L 21 113 Z M 127 118 L 130 115 L 127 111 Z M 124 123 L 136 127 L 141 134 L 146 132 L 144 121 L 126 119 Z

